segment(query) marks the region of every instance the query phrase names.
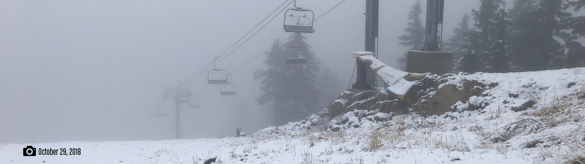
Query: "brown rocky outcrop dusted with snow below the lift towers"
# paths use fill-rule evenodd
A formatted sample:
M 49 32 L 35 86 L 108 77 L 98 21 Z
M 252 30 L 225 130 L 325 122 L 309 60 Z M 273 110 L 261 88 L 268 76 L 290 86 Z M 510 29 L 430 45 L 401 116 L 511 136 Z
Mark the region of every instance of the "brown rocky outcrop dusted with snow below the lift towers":
M 348 90 L 333 102 L 331 116 L 339 116 L 354 110 L 380 110 L 383 113 L 411 113 L 421 115 L 441 115 L 454 110 L 453 104 L 467 102 L 472 96 L 481 96 L 484 90 L 497 86 L 497 83 L 485 83 L 464 80 L 461 83 L 446 83 L 450 76 L 431 75 L 414 81 L 415 86 L 407 93 L 404 100 L 389 93 L 387 90 Z M 476 107 L 480 109 L 481 107 Z

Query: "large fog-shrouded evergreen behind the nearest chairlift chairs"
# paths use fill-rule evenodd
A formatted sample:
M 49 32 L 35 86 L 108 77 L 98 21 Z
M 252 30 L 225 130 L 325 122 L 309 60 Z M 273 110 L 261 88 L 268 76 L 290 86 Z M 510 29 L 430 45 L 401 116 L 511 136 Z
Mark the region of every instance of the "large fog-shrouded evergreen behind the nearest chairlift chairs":
M 306 39 L 301 33 L 295 33 L 283 45 L 307 47 L 304 54 L 307 62 L 304 64 L 285 64 L 287 54 L 276 40 L 264 61 L 269 66 L 268 70 L 254 73 L 254 79 L 261 79 L 260 90 L 264 92 L 257 100 L 260 105 L 269 101 L 274 103 L 276 124 L 297 121 L 319 110 L 317 107 L 319 90 L 315 86 L 315 73 L 319 67 L 315 54 L 311 52 L 311 46 L 304 41 Z

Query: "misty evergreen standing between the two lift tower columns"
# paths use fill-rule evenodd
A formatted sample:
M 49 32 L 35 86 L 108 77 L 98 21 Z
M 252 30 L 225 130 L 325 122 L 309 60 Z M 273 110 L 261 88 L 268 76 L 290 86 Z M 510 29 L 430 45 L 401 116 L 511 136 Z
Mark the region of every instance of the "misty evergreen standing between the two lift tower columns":
M 410 12 L 408 13 L 409 22 L 407 29 L 404 30 L 407 34 L 399 36 L 401 40 L 400 45 L 404 47 L 411 47 L 410 50 L 421 50 L 425 44 L 425 27 L 421 21 L 422 7 L 421 1 L 418 0 L 412 5 Z M 403 57 L 398 58 L 398 63 L 401 64 L 400 68 L 404 70 L 406 68 L 407 54 Z

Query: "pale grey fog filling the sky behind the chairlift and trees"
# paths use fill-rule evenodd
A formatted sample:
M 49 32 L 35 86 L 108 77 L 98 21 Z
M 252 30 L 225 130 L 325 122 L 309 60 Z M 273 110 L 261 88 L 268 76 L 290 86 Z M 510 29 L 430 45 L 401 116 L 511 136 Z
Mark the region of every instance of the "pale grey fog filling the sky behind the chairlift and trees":
M 264 55 L 233 72 L 235 96 L 208 85 L 207 70 L 188 78 L 283 1 L 0 1 L 0 142 L 174 139 L 174 103 L 162 96 L 184 81 L 202 103 L 181 106 L 181 138 L 273 125 L 272 105 L 257 105 L 262 92 L 253 79 L 266 68 Z M 297 5 L 320 16 L 340 1 Z M 388 65 L 408 50 L 398 36 L 414 2 L 380 2 L 379 58 Z M 443 37 L 477 6 L 446 1 Z M 363 13 L 365 1 L 343 2 L 314 23 L 315 33 L 303 34 L 322 67 L 345 85 L 355 64 L 351 52 L 364 49 Z M 290 36 L 282 21 L 281 13 L 216 67 L 231 71 Z M 159 105 L 167 117 L 153 117 Z

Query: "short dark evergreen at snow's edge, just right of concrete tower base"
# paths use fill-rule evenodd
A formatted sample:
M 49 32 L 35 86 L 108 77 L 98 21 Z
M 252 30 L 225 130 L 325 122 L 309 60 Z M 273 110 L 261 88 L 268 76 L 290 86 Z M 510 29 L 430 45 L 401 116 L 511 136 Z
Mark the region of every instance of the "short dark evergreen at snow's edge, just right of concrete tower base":
M 479 56 L 484 53 L 480 48 L 478 32 L 474 30 L 466 30 L 463 33 L 466 36 L 468 43 L 463 45 L 463 57 L 457 61 L 454 69 L 456 71 L 473 74 L 481 71 L 482 67 Z

